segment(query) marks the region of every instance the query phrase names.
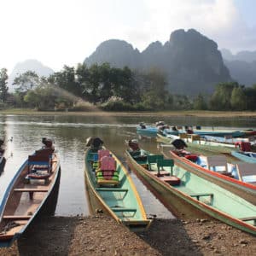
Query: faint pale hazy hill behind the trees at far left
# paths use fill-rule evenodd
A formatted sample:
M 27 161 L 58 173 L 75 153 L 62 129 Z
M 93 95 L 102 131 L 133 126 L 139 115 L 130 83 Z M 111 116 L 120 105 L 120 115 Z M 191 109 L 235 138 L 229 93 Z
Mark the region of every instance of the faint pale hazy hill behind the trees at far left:
M 18 62 L 12 73 L 9 75 L 9 91 L 15 90 L 13 82 L 17 76 L 22 73 L 26 73 L 26 71 L 33 71 L 38 74 L 39 77 L 49 77 L 50 74 L 55 73 L 53 69 L 50 67 L 44 66 L 40 61 L 37 60 L 26 60 L 22 62 Z

